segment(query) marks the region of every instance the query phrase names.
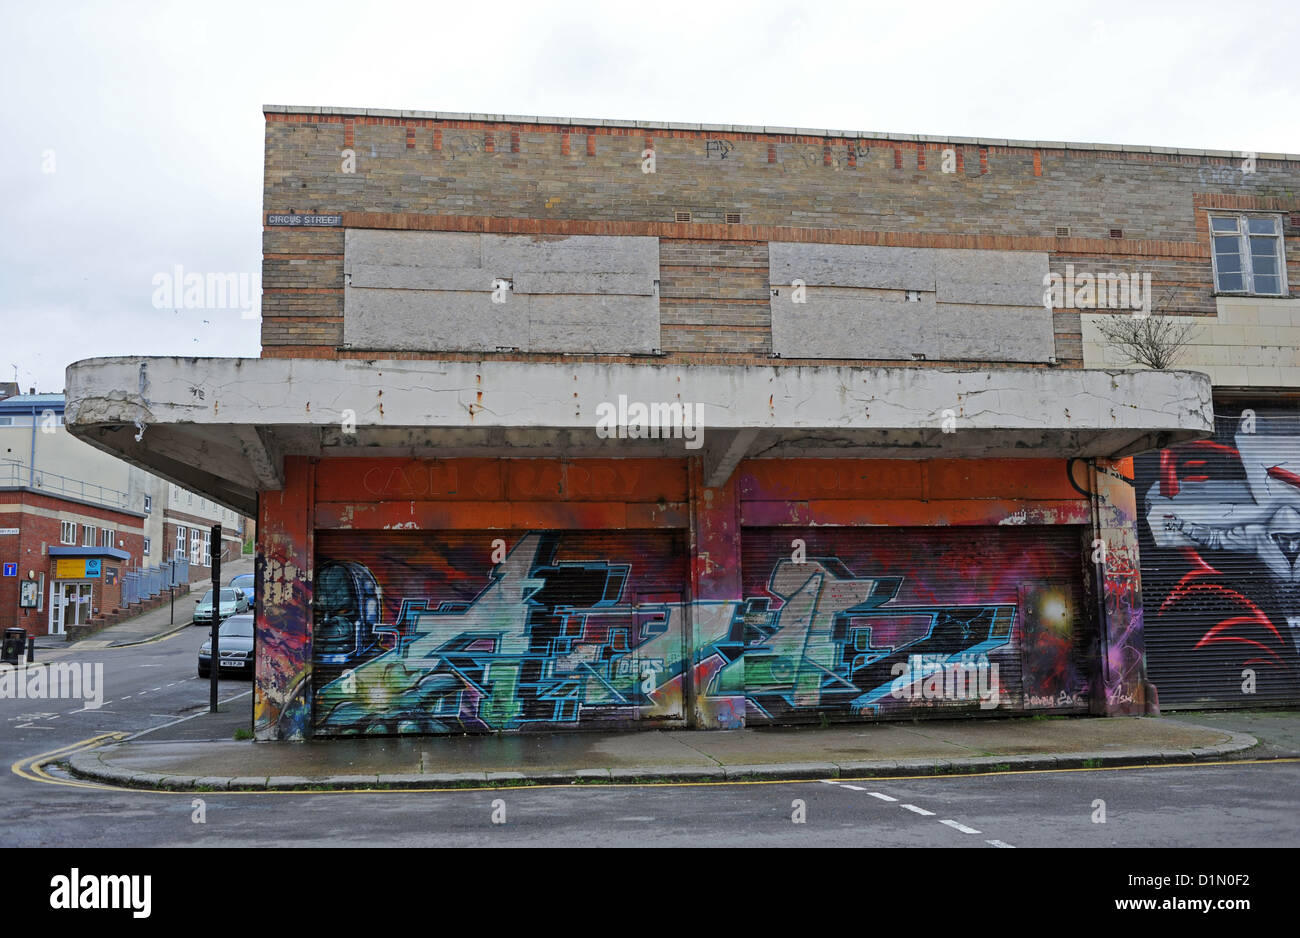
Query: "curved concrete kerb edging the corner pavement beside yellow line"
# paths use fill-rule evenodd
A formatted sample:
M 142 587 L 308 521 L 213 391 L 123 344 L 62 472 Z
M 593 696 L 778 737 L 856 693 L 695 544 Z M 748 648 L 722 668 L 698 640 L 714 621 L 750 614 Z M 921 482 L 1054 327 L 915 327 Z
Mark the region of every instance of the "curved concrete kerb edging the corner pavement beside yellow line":
M 588 769 L 540 769 L 521 772 L 442 772 L 410 774 L 272 777 L 195 777 L 121 769 L 100 757 L 101 750 L 83 750 L 62 760 L 78 778 L 136 789 L 220 791 L 308 791 L 308 790 L 402 790 L 458 787 L 516 787 L 529 785 L 582 783 L 680 783 L 727 781 L 811 781 L 853 778 L 898 778 L 915 776 L 963 776 L 1044 769 L 1123 768 L 1171 765 L 1249 759 L 1257 746 L 1254 737 L 1230 733 L 1216 746 L 1195 750 L 1112 750 L 1108 752 L 1063 752 L 967 759 L 915 759 L 898 761 L 774 763 L 753 765 L 642 765 Z M 1279 752 L 1266 759 L 1300 757 L 1300 752 Z

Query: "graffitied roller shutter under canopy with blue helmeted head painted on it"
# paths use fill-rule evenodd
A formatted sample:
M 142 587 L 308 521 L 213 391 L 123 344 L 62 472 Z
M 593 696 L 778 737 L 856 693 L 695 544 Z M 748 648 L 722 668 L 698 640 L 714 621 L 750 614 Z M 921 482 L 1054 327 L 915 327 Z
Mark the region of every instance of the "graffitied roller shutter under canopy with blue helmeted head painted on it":
M 316 557 L 318 735 L 682 717 L 681 531 L 318 531 Z

